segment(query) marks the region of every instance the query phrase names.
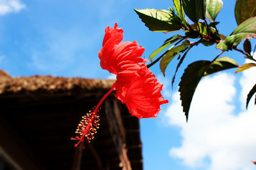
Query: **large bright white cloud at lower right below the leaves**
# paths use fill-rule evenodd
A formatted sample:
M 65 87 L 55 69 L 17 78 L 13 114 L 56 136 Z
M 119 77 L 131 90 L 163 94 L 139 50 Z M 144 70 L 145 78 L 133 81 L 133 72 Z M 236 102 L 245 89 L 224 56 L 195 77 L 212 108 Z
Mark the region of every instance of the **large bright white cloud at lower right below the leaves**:
M 244 72 L 242 80 L 243 96 L 248 93 L 244 83 L 255 80 L 255 70 L 254 74 L 253 70 Z M 188 124 L 182 113 L 179 93 L 173 94 L 172 103 L 165 115 L 169 124 L 181 128 L 182 145 L 172 148 L 170 156 L 181 159 L 186 166 L 192 168 L 256 168 L 251 162 L 256 159 L 256 107 L 250 106 L 247 111 L 235 115 L 234 82 L 235 76 L 227 73 L 204 78 L 193 97 Z M 244 107 L 244 99 L 241 102 Z

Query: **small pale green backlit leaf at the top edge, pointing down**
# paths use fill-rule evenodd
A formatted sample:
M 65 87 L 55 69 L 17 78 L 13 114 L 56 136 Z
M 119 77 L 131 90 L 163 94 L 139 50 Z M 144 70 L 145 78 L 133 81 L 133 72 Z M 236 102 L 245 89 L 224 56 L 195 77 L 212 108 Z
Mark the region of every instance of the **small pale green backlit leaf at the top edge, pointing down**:
M 206 0 L 206 11 L 205 11 L 205 17 L 210 20 L 211 22 L 214 22 L 216 19 L 218 13 L 220 12 L 223 2 L 221 0 Z

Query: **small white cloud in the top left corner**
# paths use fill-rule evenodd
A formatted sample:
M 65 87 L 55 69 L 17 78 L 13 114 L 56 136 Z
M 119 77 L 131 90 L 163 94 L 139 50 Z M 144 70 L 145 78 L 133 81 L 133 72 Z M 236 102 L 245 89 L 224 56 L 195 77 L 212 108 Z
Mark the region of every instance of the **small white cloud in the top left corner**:
M 18 13 L 24 8 L 26 8 L 25 4 L 20 3 L 19 0 L 0 0 L 0 15 L 12 12 Z

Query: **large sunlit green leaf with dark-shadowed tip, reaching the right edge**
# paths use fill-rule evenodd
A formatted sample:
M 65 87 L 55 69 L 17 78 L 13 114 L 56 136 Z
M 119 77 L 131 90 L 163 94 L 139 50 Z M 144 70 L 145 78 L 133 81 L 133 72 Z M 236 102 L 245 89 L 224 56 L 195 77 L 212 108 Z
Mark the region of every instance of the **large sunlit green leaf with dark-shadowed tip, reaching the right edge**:
M 251 17 L 238 25 L 236 29 L 228 36 L 225 41 L 218 43 L 216 48 L 221 50 L 232 50 L 232 47 L 238 45 L 243 39 L 256 38 L 256 17 Z

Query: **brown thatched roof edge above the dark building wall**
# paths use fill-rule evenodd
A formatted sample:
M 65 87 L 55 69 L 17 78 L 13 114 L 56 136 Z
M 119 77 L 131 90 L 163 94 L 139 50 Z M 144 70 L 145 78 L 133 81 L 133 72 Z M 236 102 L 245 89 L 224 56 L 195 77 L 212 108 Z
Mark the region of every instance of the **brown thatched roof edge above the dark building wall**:
M 0 69 L 0 94 L 18 94 L 31 92 L 83 92 L 95 91 L 97 89 L 110 89 L 115 80 L 65 78 L 55 76 L 28 76 L 11 77 Z

